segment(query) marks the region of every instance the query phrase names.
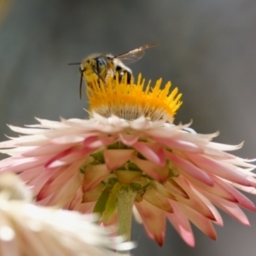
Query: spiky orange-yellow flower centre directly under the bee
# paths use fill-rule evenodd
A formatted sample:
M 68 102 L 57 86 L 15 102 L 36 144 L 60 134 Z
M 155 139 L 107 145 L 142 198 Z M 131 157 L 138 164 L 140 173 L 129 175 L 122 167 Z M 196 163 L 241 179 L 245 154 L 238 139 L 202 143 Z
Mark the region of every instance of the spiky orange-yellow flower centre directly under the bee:
M 126 76 L 119 82 L 119 78 L 110 77 L 108 82 L 95 80 L 90 82 L 86 93 L 89 99 L 89 112 L 96 112 L 104 117 L 116 115 L 119 118 L 132 120 L 144 116 L 150 120 L 164 119 L 172 122 L 177 109 L 182 105 L 177 88 L 170 90 L 171 82 L 160 89 L 162 79 L 158 79 L 154 86 L 151 81 L 145 85 L 145 79 L 139 74 L 137 82 L 132 78 L 127 83 Z

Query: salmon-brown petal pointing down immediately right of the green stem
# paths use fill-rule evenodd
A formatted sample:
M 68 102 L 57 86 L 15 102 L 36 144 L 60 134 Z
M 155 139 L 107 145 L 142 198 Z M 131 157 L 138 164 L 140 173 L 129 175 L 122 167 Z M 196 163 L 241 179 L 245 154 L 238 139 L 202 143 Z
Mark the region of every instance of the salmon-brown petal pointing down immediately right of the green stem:
M 162 246 L 166 236 L 166 212 L 144 200 L 139 203 L 135 202 L 135 206 L 143 218 L 143 225 L 148 236 Z

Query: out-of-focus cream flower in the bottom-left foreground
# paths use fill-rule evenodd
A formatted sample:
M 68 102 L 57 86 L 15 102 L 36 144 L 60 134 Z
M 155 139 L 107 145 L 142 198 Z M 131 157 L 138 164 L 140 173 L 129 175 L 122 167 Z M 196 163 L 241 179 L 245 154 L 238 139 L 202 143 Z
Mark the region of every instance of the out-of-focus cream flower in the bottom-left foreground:
M 9 173 L 8 173 L 9 174 Z M 92 215 L 32 205 L 29 190 L 15 174 L 0 175 L 1 255 L 116 255 L 131 242 L 111 237 Z M 18 189 L 17 189 L 18 187 Z M 21 196 L 16 193 L 21 191 Z

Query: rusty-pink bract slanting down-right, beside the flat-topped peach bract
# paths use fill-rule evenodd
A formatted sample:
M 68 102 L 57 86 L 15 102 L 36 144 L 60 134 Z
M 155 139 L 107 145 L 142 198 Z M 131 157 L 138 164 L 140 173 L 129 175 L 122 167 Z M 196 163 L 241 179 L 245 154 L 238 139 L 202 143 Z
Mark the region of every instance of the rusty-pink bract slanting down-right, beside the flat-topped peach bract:
M 133 156 L 131 159 L 143 172 L 148 174 L 148 176 L 153 177 L 160 183 L 166 181 L 169 176 L 169 168 L 168 166 L 160 167 L 154 165 L 152 162 L 148 160 L 141 160 L 136 156 Z

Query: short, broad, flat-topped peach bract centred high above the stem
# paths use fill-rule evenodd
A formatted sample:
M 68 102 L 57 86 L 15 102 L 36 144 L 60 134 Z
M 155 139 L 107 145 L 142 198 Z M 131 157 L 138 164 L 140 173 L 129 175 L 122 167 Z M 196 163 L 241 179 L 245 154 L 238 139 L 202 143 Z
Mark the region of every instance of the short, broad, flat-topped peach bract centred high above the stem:
M 123 166 L 134 154 L 133 149 L 105 149 L 104 159 L 109 170 L 115 170 Z

